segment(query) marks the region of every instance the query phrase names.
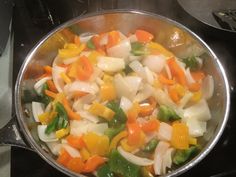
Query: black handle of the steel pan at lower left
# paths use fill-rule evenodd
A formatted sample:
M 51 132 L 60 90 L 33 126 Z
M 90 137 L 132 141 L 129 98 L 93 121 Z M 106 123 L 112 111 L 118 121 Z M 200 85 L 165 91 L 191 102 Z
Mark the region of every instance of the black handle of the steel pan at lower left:
M 33 151 L 33 148 L 22 138 L 15 117 L 0 129 L 0 146 L 16 146 Z

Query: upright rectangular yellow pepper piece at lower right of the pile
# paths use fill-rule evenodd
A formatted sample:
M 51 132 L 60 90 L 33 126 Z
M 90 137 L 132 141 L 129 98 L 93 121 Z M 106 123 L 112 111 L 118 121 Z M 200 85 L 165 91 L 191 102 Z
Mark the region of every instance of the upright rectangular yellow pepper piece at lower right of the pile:
M 172 125 L 171 144 L 176 149 L 187 149 L 189 147 L 189 130 L 185 123 L 174 123 Z

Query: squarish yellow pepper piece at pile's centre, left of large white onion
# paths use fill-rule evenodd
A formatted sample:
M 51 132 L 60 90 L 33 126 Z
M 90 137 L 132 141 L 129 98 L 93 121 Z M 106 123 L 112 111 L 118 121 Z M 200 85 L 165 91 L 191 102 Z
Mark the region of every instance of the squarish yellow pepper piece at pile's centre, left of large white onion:
M 111 101 L 116 99 L 116 90 L 113 83 L 105 83 L 101 85 L 100 95 L 102 101 Z

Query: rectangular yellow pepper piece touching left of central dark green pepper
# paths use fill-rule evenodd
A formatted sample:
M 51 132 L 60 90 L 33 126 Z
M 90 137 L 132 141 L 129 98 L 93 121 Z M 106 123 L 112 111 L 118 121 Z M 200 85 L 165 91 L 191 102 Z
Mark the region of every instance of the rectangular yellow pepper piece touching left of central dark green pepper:
M 112 120 L 112 118 L 115 115 L 115 112 L 109 109 L 108 107 L 99 104 L 99 103 L 93 103 L 92 106 L 88 110 L 90 113 L 100 116 L 108 121 Z

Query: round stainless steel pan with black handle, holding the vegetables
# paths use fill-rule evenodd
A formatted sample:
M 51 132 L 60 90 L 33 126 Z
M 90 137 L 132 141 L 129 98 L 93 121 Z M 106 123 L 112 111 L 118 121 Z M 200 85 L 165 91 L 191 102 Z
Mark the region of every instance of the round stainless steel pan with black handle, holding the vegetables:
M 213 75 L 215 80 L 214 96 L 209 102 L 213 118 L 208 122 L 207 133 L 199 141 L 203 147 L 202 151 L 190 162 L 180 168 L 173 169 L 166 176 L 180 175 L 199 163 L 215 146 L 227 123 L 230 91 L 225 71 L 207 44 L 186 27 L 156 14 L 132 10 L 107 11 L 75 18 L 50 32 L 29 52 L 20 69 L 15 86 L 16 118 L 0 130 L 0 144 L 14 144 L 31 149 L 63 173 L 69 176 L 83 176 L 57 164 L 54 156 L 39 140 L 31 107 L 22 100 L 24 89 L 33 89 L 35 78 L 43 72 L 42 66 L 50 65 L 58 48 L 71 40 L 68 30 L 81 34 L 118 29 L 127 34 L 134 32 L 137 28 L 153 33 L 156 36 L 155 40 L 169 48 L 177 56 L 183 56 L 193 51 L 205 53 L 204 70 Z M 176 34 L 177 38 L 173 37 Z

